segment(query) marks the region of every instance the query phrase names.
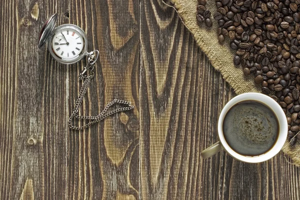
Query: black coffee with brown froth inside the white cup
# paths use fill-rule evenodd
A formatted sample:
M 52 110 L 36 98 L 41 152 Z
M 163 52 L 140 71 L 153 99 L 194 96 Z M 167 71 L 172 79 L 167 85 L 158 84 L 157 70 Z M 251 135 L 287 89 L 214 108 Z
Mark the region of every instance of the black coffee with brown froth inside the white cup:
M 267 152 L 276 142 L 279 124 L 272 110 L 256 101 L 242 101 L 231 107 L 223 121 L 223 134 L 239 154 L 255 156 Z

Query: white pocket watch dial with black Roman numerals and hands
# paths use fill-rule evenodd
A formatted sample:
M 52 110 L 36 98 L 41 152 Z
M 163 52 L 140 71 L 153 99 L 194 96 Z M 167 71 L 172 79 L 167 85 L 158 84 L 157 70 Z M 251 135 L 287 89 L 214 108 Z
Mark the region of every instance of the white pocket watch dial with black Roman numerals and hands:
M 77 57 L 84 47 L 82 36 L 74 29 L 60 29 L 53 35 L 53 52 L 62 59 Z

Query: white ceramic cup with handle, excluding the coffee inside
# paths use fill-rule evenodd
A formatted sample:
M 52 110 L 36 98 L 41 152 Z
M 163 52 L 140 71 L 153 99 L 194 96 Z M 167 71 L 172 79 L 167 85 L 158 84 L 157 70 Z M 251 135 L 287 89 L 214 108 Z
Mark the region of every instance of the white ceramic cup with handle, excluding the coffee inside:
M 228 143 L 225 141 L 225 138 L 223 135 L 222 127 L 223 127 L 224 117 L 225 117 L 227 111 L 233 105 L 235 105 L 241 101 L 245 101 L 245 100 L 254 100 L 256 102 L 260 102 L 263 105 L 266 105 L 269 109 L 271 109 L 275 113 L 278 123 L 279 123 L 279 135 L 277 137 L 277 140 L 275 141 L 274 145 L 267 152 L 265 152 L 262 155 L 246 156 L 246 155 L 237 153 L 228 145 Z M 238 160 L 244 161 L 244 162 L 256 163 L 256 162 L 262 162 L 262 161 L 272 158 L 283 147 L 283 144 L 287 137 L 287 120 L 286 120 L 286 116 L 285 116 L 282 108 L 280 107 L 280 105 L 275 100 L 273 100 L 271 97 L 261 94 L 261 93 L 249 92 L 249 93 L 243 93 L 243 94 L 237 95 L 226 103 L 226 105 L 223 107 L 221 114 L 218 118 L 217 130 L 218 130 L 218 141 L 201 152 L 202 158 L 208 158 L 208 157 L 216 154 L 220 150 L 224 149 L 229 155 L 231 155 L 235 159 L 238 159 Z

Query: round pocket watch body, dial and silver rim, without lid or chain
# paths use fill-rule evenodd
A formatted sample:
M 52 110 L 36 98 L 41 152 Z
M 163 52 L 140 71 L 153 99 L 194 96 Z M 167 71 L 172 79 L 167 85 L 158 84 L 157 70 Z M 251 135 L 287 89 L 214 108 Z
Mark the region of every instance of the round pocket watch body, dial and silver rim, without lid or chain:
M 66 64 L 77 62 L 86 53 L 86 34 L 76 25 L 60 25 L 54 30 L 48 47 L 57 61 Z

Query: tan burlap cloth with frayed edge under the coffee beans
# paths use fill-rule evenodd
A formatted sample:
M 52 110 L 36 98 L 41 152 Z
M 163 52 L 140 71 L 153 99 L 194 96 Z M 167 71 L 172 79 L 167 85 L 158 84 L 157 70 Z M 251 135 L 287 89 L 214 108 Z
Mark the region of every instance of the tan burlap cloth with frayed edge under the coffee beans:
M 170 0 L 177 10 L 182 22 L 193 34 L 197 44 L 206 53 L 213 67 L 219 70 L 223 78 L 232 86 L 237 94 L 243 92 L 261 92 L 261 89 L 253 81 L 254 76 L 244 77 L 241 67 L 235 67 L 232 62 L 233 51 L 229 48 L 229 40 L 219 44 L 216 30 L 217 23 L 213 19 L 216 12 L 215 2 L 208 0 L 206 7 L 211 11 L 213 26 L 208 29 L 204 24 L 199 26 L 196 20 L 197 0 Z M 293 163 L 300 166 L 300 142 L 290 147 L 288 141 L 285 142 L 283 152 L 288 154 Z

